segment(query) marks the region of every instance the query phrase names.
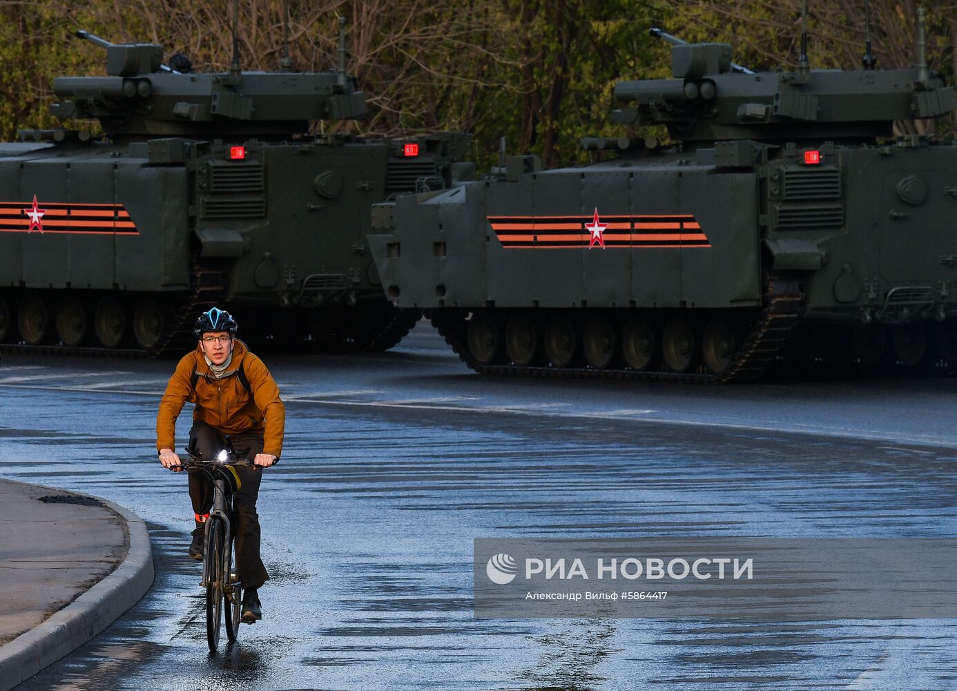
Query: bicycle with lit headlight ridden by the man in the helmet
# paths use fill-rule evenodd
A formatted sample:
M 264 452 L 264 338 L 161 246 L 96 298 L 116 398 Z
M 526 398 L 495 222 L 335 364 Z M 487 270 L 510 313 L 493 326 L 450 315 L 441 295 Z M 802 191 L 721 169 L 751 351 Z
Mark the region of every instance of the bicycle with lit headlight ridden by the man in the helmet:
M 200 471 L 212 480 L 212 508 L 206 519 L 203 537 L 203 580 L 206 588 L 206 641 L 210 652 L 219 647 L 219 632 L 223 622 L 223 606 L 226 606 L 226 636 L 232 643 L 239 634 L 239 617 L 242 605 L 242 588 L 233 559 L 233 492 L 239 487 L 239 477 L 234 466 L 253 465 L 249 458 L 237 455 L 226 439 L 228 449 L 223 449 L 213 460 L 203 460 L 195 448 L 187 449 L 188 459 L 180 465 L 171 466 L 187 471 Z

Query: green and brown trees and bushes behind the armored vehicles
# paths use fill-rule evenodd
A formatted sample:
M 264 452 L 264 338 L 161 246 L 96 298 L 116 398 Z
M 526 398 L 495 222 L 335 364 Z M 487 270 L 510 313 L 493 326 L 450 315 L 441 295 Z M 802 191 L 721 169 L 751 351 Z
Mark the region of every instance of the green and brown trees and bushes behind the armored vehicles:
M 511 153 L 537 153 L 547 166 L 588 160 L 580 139 L 634 134 L 612 125 L 613 85 L 670 77 L 659 26 L 691 41 L 732 43 L 753 69 L 796 66 L 800 0 L 290 0 L 291 54 L 300 70 L 337 63 L 337 21 L 347 19 L 348 70 L 367 92 L 364 123 L 321 123 L 323 131 L 403 136 L 454 129 L 473 133 L 487 168 L 505 137 Z M 860 7 L 858 7 L 858 5 Z M 240 0 L 239 50 L 245 69 L 275 69 L 282 54 L 282 0 Z M 821 0 L 809 8 L 815 68 L 853 68 L 863 55 L 862 3 Z M 53 127 L 53 78 L 99 75 L 100 48 L 77 29 L 115 42 L 163 44 L 197 70 L 227 69 L 232 0 L 0 0 L 0 136 Z M 873 0 L 879 65 L 914 64 L 916 0 Z M 928 8 L 931 68 L 948 81 L 957 64 L 952 3 Z M 91 123 L 77 123 L 90 127 Z M 951 125 L 952 125 L 951 121 Z M 646 132 L 640 133 L 648 134 Z M 656 132 L 655 134 L 660 134 Z

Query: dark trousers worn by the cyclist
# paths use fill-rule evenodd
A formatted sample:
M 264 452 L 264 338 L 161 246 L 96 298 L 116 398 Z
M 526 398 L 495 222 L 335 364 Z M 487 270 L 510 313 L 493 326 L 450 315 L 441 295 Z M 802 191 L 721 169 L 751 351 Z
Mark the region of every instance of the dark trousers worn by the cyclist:
M 237 454 L 253 460 L 262 453 L 262 435 L 230 435 Z M 226 448 L 226 439 L 216 428 L 205 422 L 195 421 L 189 430 L 189 448 L 196 450 L 204 459 L 214 458 Z M 259 496 L 259 482 L 262 480 L 262 468 L 236 466 L 236 473 L 242 486 L 233 495 L 234 521 L 233 535 L 236 551 L 236 571 L 243 589 L 258 588 L 269 580 L 266 567 L 259 557 L 259 515 L 256 513 L 256 499 Z M 189 499 L 192 510 L 200 516 L 208 514 L 212 508 L 212 480 L 202 472 L 189 473 Z

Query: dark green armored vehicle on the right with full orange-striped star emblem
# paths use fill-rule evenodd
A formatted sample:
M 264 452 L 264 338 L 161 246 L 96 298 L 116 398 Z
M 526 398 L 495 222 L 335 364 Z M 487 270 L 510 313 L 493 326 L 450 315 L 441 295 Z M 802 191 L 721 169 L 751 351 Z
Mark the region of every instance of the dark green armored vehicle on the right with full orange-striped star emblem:
M 954 108 L 925 57 L 840 71 L 802 56 L 755 74 L 730 45 L 653 33 L 674 43 L 672 78 L 615 86 L 612 120 L 633 136 L 584 141 L 611 159 L 508 157 L 374 209 L 393 303 L 428 310 L 480 372 L 723 382 L 785 356 L 957 367 L 957 146 L 894 134 Z M 658 124 L 669 145 L 642 136 Z

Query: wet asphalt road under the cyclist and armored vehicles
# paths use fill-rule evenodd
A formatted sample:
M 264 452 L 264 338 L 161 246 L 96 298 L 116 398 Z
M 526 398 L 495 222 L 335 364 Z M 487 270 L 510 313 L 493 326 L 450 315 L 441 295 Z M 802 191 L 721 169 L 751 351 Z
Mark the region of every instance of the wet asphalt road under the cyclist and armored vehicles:
M 957 688 L 952 620 L 472 615 L 475 537 L 955 536 L 954 380 L 483 379 L 422 326 L 385 354 L 265 359 L 287 400 L 266 618 L 211 656 L 186 479 L 153 460 L 173 363 L 5 356 L 3 477 L 129 507 L 158 574 L 19 688 Z

